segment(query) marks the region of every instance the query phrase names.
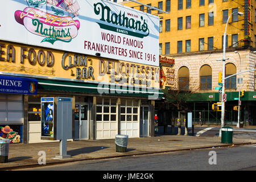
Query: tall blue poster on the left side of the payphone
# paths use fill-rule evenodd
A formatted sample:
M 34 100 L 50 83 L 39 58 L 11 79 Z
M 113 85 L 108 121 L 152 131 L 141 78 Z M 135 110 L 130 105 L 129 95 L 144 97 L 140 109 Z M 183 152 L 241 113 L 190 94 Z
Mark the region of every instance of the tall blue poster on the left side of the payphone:
M 54 98 L 41 98 L 41 137 L 53 138 L 54 133 Z

